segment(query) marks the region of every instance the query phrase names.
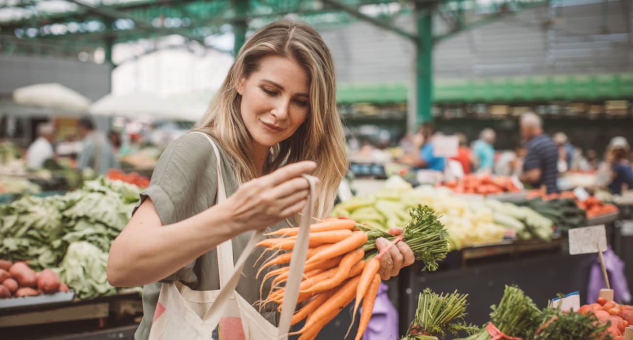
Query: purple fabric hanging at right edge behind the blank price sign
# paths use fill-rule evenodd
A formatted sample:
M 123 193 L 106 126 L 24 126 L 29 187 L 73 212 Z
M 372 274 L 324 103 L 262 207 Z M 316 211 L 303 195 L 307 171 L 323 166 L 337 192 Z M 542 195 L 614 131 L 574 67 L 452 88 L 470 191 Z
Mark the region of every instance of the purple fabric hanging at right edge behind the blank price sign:
M 609 284 L 613 289 L 613 299 L 617 303 L 629 303 L 631 293 L 629 291 L 629 283 L 624 275 L 624 262 L 615 255 L 611 248 L 603 253 L 605 258 L 606 273 L 609 276 Z M 598 300 L 600 289 L 606 288 L 605 279 L 602 276 L 602 268 L 600 267 L 600 258 L 596 255 L 596 261 L 591 267 L 589 274 L 589 287 L 587 288 L 587 303 L 594 303 Z

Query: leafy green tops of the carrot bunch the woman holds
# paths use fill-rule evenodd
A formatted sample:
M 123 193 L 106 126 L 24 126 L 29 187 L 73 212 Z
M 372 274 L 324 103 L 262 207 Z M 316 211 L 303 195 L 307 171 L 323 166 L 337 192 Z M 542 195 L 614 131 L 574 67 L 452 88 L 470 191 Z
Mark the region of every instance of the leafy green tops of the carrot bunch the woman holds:
M 404 225 L 403 234 L 394 236 L 384 231 L 370 226 L 359 228 L 368 236 L 368 241 L 363 246 L 365 257 L 372 258 L 378 254 L 376 249 L 376 239 L 383 237 L 389 241 L 396 239 L 406 242 L 415 254 L 416 260 L 424 262 L 423 270 L 437 270 L 437 262 L 446 257 L 448 253 L 448 233 L 444 225 L 439 221 L 433 209 L 427 205 L 418 204 L 409 212 L 411 219 Z

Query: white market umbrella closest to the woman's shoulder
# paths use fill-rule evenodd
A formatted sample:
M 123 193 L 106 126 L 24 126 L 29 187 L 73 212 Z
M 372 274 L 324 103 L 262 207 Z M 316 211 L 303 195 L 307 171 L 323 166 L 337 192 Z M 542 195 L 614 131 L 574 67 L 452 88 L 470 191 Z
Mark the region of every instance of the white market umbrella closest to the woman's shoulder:
M 96 116 L 118 116 L 127 118 L 179 118 L 172 102 L 153 94 L 131 93 L 108 94 L 94 102 L 90 113 Z

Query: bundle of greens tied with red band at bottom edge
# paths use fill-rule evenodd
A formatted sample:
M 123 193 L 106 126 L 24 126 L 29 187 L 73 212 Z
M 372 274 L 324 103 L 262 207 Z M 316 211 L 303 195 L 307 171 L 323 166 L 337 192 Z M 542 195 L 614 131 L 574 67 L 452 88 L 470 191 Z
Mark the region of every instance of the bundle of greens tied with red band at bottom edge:
M 506 336 L 531 339 L 541 325 L 542 312 L 529 296 L 515 286 L 506 286 L 505 293 L 498 306 L 492 306 L 490 323 Z M 487 325 L 491 327 L 490 324 Z M 495 336 L 484 327 L 477 334 L 462 340 L 490 340 Z

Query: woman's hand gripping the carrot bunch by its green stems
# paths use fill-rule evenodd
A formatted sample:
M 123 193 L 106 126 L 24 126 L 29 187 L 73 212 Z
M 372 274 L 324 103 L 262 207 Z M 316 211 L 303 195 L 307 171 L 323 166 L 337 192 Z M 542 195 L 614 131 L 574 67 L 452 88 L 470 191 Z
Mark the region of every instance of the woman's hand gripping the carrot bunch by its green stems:
M 402 233 L 401 228 L 394 228 L 389 231 L 390 234 L 398 235 Z M 386 238 L 378 238 L 376 240 L 376 248 L 380 252 L 384 248 L 389 246 L 391 241 Z M 413 255 L 413 250 L 404 243 L 403 241 L 399 241 L 395 245 L 393 245 L 387 252 L 385 252 L 380 258 L 380 269 L 378 270 L 378 274 L 380 274 L 380 278 L 383 280 L 388 280 L 391 277 L 397 276 L 401 269 L 408 265 L 412 265 L 415 262 L 415 255 Z

